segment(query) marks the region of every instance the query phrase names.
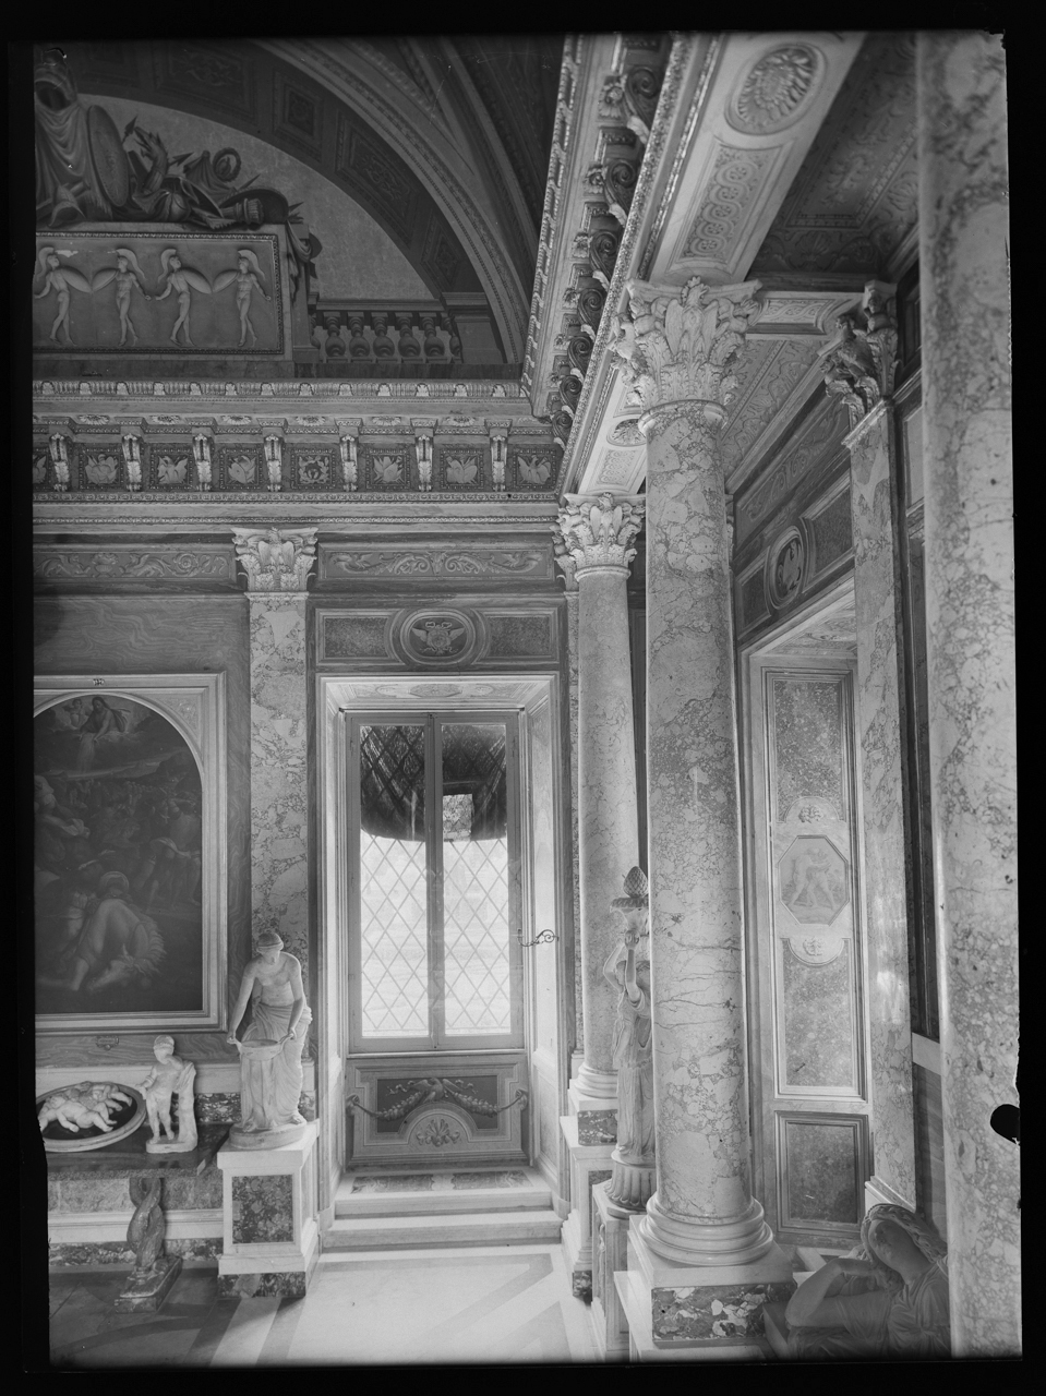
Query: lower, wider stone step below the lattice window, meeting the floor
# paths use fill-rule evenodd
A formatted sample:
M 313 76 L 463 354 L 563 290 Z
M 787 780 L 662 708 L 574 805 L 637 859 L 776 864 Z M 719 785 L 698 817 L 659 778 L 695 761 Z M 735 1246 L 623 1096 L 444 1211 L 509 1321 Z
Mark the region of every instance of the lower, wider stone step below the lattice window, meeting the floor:
M 402 1251 L 450 1245 L 559 1242 L 563 1223 L 545 1212 L 471 1212 L 444 1216 L 335 1217 L 324 1234 L 330 1251 Z

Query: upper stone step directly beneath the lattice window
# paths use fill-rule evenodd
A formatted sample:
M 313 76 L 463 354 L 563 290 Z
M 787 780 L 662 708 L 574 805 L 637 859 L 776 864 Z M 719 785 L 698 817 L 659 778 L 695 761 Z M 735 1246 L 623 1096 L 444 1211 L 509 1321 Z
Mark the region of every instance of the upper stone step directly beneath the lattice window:
M 469 1212 L 535 1212 L 552 1206 L 552 1192 L 531 1168 L 489 1173 L 355 1173 L 342 1178 L 334 1201 L 338 1217 L 448 1216 Z

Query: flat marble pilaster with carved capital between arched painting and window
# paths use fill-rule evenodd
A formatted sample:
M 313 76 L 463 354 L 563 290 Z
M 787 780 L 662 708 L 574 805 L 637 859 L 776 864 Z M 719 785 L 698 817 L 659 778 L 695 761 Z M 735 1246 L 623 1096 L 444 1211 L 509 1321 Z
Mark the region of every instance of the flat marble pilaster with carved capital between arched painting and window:
M 316 529 L 233 533 L 250 597 L 251 928 L 282 937 L 307 986 L 304 586 Z

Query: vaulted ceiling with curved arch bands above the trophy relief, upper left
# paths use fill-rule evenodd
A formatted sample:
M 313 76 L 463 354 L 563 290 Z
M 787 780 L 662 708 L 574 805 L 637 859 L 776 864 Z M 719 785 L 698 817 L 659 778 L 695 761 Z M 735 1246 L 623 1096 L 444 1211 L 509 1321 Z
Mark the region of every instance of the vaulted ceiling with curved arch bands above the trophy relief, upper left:
M 433 297 L 486 300 L 522 360 L 561 36 L 57 43 L 81 92 L 221 123 L 321 173 Z

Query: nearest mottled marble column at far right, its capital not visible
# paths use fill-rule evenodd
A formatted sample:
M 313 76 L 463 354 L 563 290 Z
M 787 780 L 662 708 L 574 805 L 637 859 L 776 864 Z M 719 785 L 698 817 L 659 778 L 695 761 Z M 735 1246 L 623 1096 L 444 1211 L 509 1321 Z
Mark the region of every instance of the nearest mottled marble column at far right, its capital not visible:
M 1017 752 L 1003 47 L 919 35 L 926 634 L 951 1337 L 1021 1350 Z

